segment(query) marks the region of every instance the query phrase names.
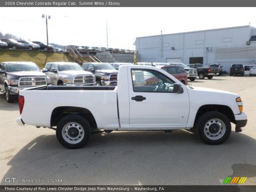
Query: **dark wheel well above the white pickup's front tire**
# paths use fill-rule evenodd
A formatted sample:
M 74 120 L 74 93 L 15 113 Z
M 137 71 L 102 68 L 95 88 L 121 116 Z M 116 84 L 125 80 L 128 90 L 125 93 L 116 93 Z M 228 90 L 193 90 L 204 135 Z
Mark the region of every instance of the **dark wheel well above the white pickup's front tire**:
M 228 107 L 226 105 L 203 105 L 197 110 L 194 126 L 196 124 L 197 119 L 202 114 L 204 114 L 208 111 L 218 111 L 220 113 L 223 113 L 224 115 L 226 115 L 228 117 L 230 122 L 232 122 L 232 123 L 235 122 L 235 116 L 230 107 Z

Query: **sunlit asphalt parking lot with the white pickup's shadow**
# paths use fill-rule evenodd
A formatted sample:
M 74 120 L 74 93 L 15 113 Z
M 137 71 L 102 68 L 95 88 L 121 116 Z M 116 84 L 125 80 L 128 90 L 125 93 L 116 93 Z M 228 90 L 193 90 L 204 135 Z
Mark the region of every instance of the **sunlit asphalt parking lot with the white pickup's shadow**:
M 256 185 L 255 82 L 249 76 L 192 82 L 235 92 L 243 100 L 246 127 L 236 133 L 232 124 L 229 139 L 217 146 L 183 130 L 115 131 L 93 134 L 84 148 L 70 150 L 59 144 L 54 130 L 16 124 L 18 102 L 8 104 L 0 94 L 1 185 L 222 185 L 227 176 L 248 177 L 245 184 Z M 8 177 L 62 183 L 6 183 Z

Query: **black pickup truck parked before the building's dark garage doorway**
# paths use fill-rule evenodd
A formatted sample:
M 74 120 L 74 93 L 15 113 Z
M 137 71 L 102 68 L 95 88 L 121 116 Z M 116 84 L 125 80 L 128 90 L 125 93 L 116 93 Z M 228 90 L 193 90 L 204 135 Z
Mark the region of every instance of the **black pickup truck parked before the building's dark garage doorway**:
M 213 76 L 220 74 L 219 68 L 215 67 L 204 67 L 202 64 L 189 64 L 187 66 L 196 68 L 199 79 L 204 79 L 205 77 L 212 79 Z

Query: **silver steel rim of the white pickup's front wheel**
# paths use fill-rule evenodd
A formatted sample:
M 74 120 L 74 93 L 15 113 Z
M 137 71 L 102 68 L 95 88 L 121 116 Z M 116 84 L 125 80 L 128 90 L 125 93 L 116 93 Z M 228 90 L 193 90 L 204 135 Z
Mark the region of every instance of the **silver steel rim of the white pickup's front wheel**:
M 208 139 L 218 140 L 226 132 L 226 126 L 220 119 L 211 119 L 204 125 L 204 134 Z

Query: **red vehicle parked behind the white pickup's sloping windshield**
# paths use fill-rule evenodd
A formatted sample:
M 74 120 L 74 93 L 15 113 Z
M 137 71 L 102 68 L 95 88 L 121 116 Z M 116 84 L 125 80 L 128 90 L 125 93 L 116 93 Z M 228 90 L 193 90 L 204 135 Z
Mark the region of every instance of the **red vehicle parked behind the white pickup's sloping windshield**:
M 164 69 L 167 73 L 170 73 L 172 76 L 178 79 L 181 83 L 188 85 L 188 75 L 182 66 L 165 65 L 165 66 L 159 66 L 159 67 L 161 69 Z

